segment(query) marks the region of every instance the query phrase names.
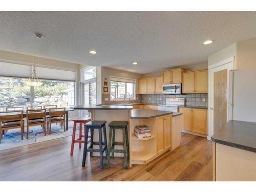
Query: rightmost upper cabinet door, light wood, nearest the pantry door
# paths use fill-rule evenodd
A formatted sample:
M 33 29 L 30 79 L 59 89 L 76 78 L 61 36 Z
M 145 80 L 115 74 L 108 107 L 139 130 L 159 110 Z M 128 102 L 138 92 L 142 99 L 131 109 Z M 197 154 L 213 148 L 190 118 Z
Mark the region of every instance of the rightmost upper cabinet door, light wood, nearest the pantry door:
M 208 70 L 195 71 L 195 91 L 196 93 L 208 92 Z

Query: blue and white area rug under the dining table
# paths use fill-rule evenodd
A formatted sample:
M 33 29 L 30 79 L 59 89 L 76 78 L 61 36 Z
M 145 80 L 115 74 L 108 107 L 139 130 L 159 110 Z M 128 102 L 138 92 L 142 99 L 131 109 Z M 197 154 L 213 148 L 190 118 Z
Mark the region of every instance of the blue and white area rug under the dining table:
M 76 130 L 79 130 L 79 124 L 77 125 Z M 49 135 L 49 132 L 47 132 L 46 136 L 41 126 L 30 127 L 29 138 L 26 139 L 26 132 L 25 132 L 23 140 L 20 134 L 20 129 L 8 130 L 6 135 L 3 136 L 3 139 L 1 140 L 0 151 L 7 150 L 8 148 L 13 148 L 17 146 L 24 146 L 24 145 L 33 144 L 33 143 L 49 141 L 49 140 L 58 139 L 61 137 L 68 137 L 68 136 L 71 136 L 72 133 L 73 133 L 73 121 L 69 122 L 69 130 L 66 132 L 64 132 L 64 130 L 61 129 L 59 124 L 57 125 L 53 123 L 51 127 L 51 135 Z M 76 133 L 79 133 L 79 131 L 76 131 Z

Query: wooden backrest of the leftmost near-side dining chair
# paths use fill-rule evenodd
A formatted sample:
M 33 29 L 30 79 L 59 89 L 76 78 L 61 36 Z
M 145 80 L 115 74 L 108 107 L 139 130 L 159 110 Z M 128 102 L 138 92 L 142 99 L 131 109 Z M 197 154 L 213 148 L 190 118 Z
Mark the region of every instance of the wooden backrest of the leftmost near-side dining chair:
M 23 110 L 0 112 L 0 126 L 2 122 L 20 121 L 23 122 Z

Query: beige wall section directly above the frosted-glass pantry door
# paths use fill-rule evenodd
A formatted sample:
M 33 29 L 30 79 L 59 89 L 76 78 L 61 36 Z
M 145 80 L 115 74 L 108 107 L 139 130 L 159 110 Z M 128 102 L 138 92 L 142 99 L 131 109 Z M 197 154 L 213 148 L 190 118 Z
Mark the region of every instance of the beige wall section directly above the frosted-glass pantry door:
M 222 49 L 218 51 L 217 53 L 210 55 L 208 57 L 208 66 L 211 66 L 221 60 L 227 59 L 229 57 L 236 57 L 237 56 L 237 43 L 234 43 L 225 49 Z M 234 67 L 236 68 L 236 58 L 235 58 L 235 63 Z

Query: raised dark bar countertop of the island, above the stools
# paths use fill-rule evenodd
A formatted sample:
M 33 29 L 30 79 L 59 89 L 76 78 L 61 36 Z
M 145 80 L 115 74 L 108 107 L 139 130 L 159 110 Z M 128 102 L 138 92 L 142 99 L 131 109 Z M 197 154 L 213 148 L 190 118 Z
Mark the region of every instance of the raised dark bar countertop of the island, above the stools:
M 74 110 L 132 110 L 132 105 L 98 105 L 98 104 L 82 104 L 72 106 Z

